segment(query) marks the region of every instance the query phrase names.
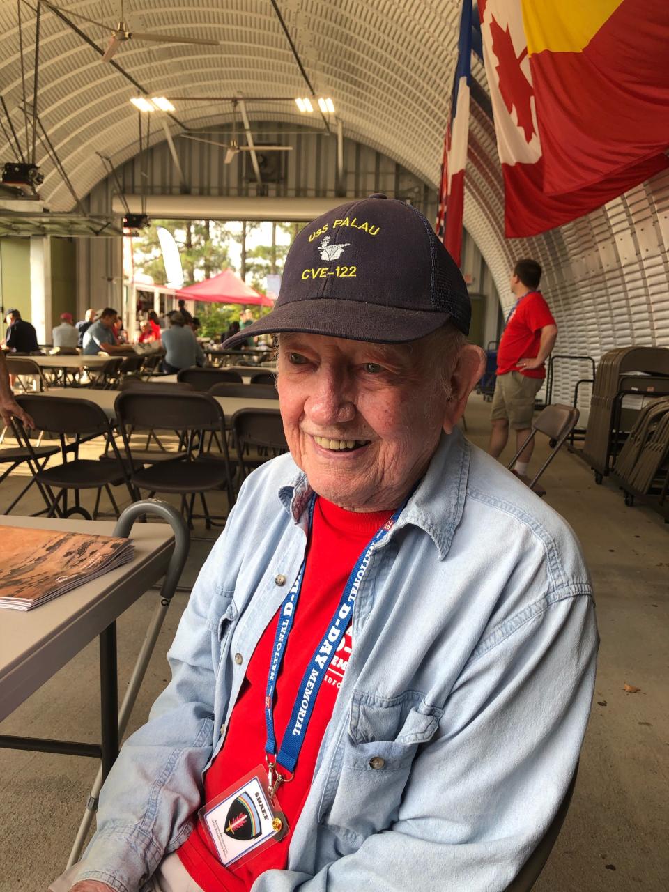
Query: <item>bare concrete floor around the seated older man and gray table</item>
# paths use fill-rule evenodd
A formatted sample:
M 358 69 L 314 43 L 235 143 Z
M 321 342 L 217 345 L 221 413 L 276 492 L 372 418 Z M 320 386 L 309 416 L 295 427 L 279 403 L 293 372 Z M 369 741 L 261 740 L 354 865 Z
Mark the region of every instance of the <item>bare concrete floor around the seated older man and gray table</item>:
M 487 440 L 488 411 L 479 397 L 470 399 L 467 435 L 477 445 Z M 534 463 L 545 448 L 538 446 Z M 0 504 L 18 491 L 21 479 L 3 483 Z M 626 508 L 612 485 L 596 486 L 590 469 L 566 450 L 542 483 L 546 500 L 582 541 L 595 582 L 601 649 L 574 800 L 535 889 L 664 892 L 669 885 L 669 526 L 648 508 Z M 19 506 L 25 514 L 38 507 L 34 496 Z M 222 497 L 213 507 L 224 513 Z M 183 584 L 192 584 L 210 548 L 194 542 Z M 146 593 L 120 617 L 120 690 L 155 599 L 155 592 Z M 186 599 L 178 594 L 169 609 L 130 730 L 145 720 L 168 681 L 164 655 Z M 94 643 L 1 723 L 0 732 L 95 741 L 97 678 Z M 640 691 L 625 693 L 625 683 Z M 67 860 L 96 768 L 71 756 L 0 750 L 0 892 L 45 892 Z

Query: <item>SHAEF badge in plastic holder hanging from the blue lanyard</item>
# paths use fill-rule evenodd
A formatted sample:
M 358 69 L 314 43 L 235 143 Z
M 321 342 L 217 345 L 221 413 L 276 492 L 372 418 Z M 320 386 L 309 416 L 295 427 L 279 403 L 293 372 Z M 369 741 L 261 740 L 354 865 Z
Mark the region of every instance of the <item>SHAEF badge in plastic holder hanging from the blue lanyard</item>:
M 240 863 L 283 839 L 288 832 L 285 814 L 268 792 L 264 765 L 214 797 L 197 813 L 224 867 Z

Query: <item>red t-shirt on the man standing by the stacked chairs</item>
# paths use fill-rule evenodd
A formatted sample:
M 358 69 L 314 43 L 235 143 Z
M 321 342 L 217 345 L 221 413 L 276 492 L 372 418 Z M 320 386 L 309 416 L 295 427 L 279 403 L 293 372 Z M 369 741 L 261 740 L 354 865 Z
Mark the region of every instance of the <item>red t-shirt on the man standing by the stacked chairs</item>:
M 540 291 L 529 291 L 521 297 L 502 333 L 497 351 L 497 374 L 520 372 L 528 378 L 543 378 L 546 369 L 518 368 L 519 359 L 533 359 L 539 354 L 541 329 L 554 326 L 555 319 Z

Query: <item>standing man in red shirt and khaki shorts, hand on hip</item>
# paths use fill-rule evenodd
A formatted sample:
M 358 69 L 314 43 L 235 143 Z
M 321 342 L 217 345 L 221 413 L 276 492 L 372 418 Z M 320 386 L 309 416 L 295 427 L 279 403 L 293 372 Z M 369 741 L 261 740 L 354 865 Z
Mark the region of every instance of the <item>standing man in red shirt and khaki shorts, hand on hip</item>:
M 541 296 L 541 266 L 536 260 L 518 260 L 511 274 L 511 291 L 516 303 L 497 353 L 497 384 L 491 408 L 491 438 L 488 451 L 499 458 L 507 445 L 508 427 L 516 431 L 516 450 L 530 435 L 534 397 L 546 376 L 544 362 L 558 337 L 549 306 Z M 530 440 L 518 456 L 514 473 L 529 483 L 527 466 L 534 441 Z M 540 494 L 543 494 L 541 491 Z

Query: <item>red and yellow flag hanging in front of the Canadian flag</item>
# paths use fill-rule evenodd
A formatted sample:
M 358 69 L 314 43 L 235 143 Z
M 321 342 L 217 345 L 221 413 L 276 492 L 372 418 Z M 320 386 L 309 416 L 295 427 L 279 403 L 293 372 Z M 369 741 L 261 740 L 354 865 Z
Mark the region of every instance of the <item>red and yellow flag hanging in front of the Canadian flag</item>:
M 591 186 L 669 146 L 667 0 L 522 0 L 543 190 Z

